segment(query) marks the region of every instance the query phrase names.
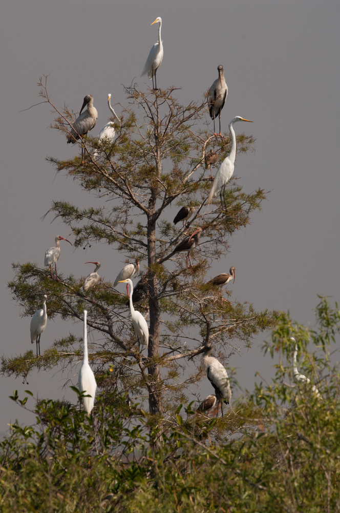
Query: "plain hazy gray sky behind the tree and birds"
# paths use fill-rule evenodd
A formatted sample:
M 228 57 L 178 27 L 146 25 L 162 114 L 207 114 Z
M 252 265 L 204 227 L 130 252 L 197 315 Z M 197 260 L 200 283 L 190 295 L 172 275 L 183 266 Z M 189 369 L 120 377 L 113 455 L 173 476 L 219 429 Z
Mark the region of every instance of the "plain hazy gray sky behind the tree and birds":
M 264 187 L 272 192 L 253 224 L 237 232 L 225 262 L 211 276 L 236 267 L 233 297 L 258 310 L 290 310 L 293 319 L 313 323 L 317 293 L 339 299 L 339 14 L 338 1 L 163 0 L 3 1 L 0 17 L 1 60 L 1 326 L 3 354 L 31 348 L 30 319 L 20 318 L 6 283 L 13 277 L 11 262 L 44 264 L 44 253 L 60 234 L 70 231 L 52 216 L 40 218 L 52 199 L 80 206 L 93 203 L 72 179 L 56 176 L 46 155 L 67 159 L 76 152 L 65 138 L 47 128 L 48 105 L 26 112 L 37 103 L 36 82 L 49 76 L 49 92 L 59 107 L 64 102 L 79 111 L 86 94 L 94 95 L 99 112 L 91 132 L 107 123 L 112 103 L 126 105 L 121 84 L 139 77 L 151 46 L 157 41 L 157 16 L 163 20 L 164 59 L 158 71 L 160 87 L 176 85 L 179 99 L 200 100 L 223 64 L 229 88 L 222 129 L 235 115 L 253 125 L 236 125 L 256 137 L 256 153 L 237 160 L 235 174 L 247 192 Z M 145 77 L 138 78 L 142 86 Z M 150 82 L 151 84 L 151 82 Z M 144 87 L 144 86 L 142 86 Z M 120 111 L 119 107 L 117 108 Z M 173 217 L 176 209 L 170 213 Z M 73 240 L 71 238 L 71 240 Z M 88 260 L 99 260 L 100 273 L 114 279 L 124 255 L 104 245 L 85 251 L 61 241 L 59 268 L 86 275 Z M 41 348 L 81 325 L 49 322 Z M 242 358 L 237 378 L 252 388 L 254 373 L 268 379 L 272 361 L 260 352 L 263 336 Z M 33 346 L 35 350 L 35 346 Z M 63 377 L 41 372 L 21 380 L 1 378 L 0 432 L 31 414 L 8 399 L 14 388 L 36 396 L 74 399 L 61 389 Z M 210 390 L 207 386 L 206 391 Z M 211 391 L 211 390 L 210 390 Z M 33 405 L 29 400 L 28 406 Z

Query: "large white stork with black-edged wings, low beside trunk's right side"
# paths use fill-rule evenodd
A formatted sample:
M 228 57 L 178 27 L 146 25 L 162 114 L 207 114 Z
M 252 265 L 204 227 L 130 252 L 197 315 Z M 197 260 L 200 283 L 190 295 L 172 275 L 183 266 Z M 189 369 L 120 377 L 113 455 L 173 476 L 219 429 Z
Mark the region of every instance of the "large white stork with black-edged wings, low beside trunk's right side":
M 206 371 L 206 375 L 211 385 L 213 385 L 217 401 L 221 404 L 221 411 L 223 417 L 222 403 L 229 404 L 231 400 L 231 388 L 228 378 L 228 373 L 218 361 L 217 358 L 209 356 L 212 348 L 210 347 L 203 353 L 202 367 Z

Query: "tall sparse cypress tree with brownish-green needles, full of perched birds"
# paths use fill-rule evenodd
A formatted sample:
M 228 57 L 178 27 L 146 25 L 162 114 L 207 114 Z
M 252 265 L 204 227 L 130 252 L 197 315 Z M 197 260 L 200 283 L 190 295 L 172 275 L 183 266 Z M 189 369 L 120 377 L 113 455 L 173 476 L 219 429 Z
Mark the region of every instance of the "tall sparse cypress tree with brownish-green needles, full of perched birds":
M 39 86 L 40 95 L 56 112 L 51 126 L 68 134 L 74 115 L 67 108 L 55 108 L 46 81 L 40 80 Z M 225 134 L 220 140 L 210 135 L 206 97 L 183 106 L 175 91 L 172 87 L 144 93 L 136 84 L 126 87 L 128 107 L 122 109 L 120 125 L 114 125 L 114 141 L 81 136 L 78 144 L 84 156 L 48 159 L 58 172 L 73 176 L 84 190 L 103 199 L 101 208 L 87 209 L 53 202 L 50 211 L 71 226 L 75 246 L 105 242 L 124 253 L 127 262 L 140 261 L 149 306 L 147 357 L 143 346 L 138 348 L 126 295 L 111 282 L 101 281 L 92 300 L 91 294 L 82 291 L 79 278 L 58 273 L 60 280 L 55 281 L 48 270 L 26 263 L 13 264 L 15 278 L 9 283 L 24 307 L 23 315 L 32 315 L 44 294 L 49 318 L 82 320 L 86 307 L 88 325 L 104 334 L 104 341 L 94 344 L 89 355 L 102 398 L 116 390 L 118 408 L 125 392 L 139 402 L 148 397 L 155 421 L 174 411 L 179 401 L 185 402 L 185 389 L 202 378 L 200 369 L 180 378 L 189 358 L 214 345 L 223 359 L 234 348 L 249 346 L 254 334 L 273 323 L 271 313 L 232 302 L 207 283 L 211 264 L 225 257 L 230 235 L 250 222 L 251 212 L 260 208 L 265 194 L 263 189 L 243 192 L 235 178 L 225 191 L 226 211 L 219 196 L 206 205 L 211 179 L 204 176 L 205 154 L 215 149 L 222 162 L 230 151 L 230 137 Z M 253 143 L 251 135 L 239 134 L 237 153 L 251 151 Z M 196 207 L 194 215 L 186 227 L 175 226 L 174 209 L 168 207 L 189 204 Z M 186 252 L 175 249 L 197 228 L 199 245 L 190 253 L 193 266 L 187 266 Z M 236 262 L 232 264 L 237 267 Z M 41 357 L 32 350 L 15 358 L 3 357 L 2 373 L 26 379 L 34 368 L 71 369 L 81 357 L 79 340 L 70 334 L 55 341 Z

